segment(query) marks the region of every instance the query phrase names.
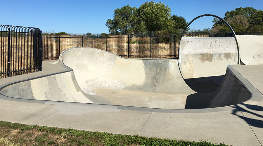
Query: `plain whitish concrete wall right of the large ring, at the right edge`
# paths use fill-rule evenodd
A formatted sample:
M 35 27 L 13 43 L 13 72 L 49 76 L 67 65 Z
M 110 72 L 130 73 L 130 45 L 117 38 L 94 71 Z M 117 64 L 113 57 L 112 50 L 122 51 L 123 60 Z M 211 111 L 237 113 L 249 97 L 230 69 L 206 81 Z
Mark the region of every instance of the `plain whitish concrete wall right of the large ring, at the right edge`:
M 240 59 L 245 65 L 263 64 L 263 36 L 236 35 Z

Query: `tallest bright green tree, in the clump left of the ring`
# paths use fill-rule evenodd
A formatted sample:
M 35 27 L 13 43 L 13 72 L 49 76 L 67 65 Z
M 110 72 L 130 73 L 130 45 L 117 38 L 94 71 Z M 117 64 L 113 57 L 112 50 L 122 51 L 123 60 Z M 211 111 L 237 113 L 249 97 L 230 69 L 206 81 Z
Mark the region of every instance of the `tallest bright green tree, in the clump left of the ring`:
M 139 7 L 138 14 L 147 31 L 165 30 L 174 26 L 170 7 L 161 2 L 145 2 Z

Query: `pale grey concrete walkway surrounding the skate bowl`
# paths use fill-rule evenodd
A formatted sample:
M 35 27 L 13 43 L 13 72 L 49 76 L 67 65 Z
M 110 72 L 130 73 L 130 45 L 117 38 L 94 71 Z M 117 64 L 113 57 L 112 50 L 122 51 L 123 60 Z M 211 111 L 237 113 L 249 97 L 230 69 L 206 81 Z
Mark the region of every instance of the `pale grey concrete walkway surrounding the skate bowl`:
M 52 62 L 43 62 L 41 72 L 0 79 L 0 88 L 17 81 L 71 70 Z M 252 92 L 253 98 L 262 101 L 263 65 L 233 65 L 231 68 Z M 159 110 L 25 100 L 0 95 L 0 120 L 177 140 L 209 140 L 227 145 L 263 144 L 263 102 L 256 101 L 212 109 Z

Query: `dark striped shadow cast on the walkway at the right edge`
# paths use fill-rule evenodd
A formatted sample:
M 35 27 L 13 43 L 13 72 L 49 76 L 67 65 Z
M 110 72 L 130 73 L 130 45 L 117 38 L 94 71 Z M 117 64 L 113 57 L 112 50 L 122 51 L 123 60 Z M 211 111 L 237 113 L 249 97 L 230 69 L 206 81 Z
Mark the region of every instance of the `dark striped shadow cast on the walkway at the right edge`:
M 240 105 L 244 105 L 245 107 L 247 107 L 248 109 L 251 109 L 253 111 L 263 111 L 263 107 L 262 106 L 258 106 L 258 105 L 248 105 L 248 104 L 245 104 L 245 103 L 240 103 Z M 254 127 L 259 127 L 259 128 L 263 128 L 263 116 L 260 115 L 260 114 L 257 114 L 255 112 L 251 112 L 251 111 L 248 111 L 247 109 L 243 109 L 241 108 L 240 106 L 238 105 L 234 105 L 234 110 L 232 112 L 233 115 L 236 115 L 238 116 L 239 118 L 245 120 L 246 122 L 248 122 L 248 124 L 250 126 L 254 126 Z M 255 115 L 256 117 L 258 117 L 258 119 L 252 119 L 252 118 L 248 118 L 244 115 L 243 116 L 240 116 L 237 114 L 237 112 L 242 112 L 242 114 L 244 112 L 246 113 L 249 113 L 249 114 L 252 114 L 252 115 Z

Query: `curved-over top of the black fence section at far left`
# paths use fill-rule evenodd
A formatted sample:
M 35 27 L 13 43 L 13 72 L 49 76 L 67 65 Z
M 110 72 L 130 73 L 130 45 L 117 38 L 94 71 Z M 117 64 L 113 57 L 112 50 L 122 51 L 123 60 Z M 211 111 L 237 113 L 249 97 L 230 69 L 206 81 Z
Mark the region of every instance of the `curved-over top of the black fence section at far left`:
M 26 33 L 41 33 L 41 30 L 36 27 L 23 27 L 13 25 L 0 25 L 0 31 L 8 31 L 8 28 L 13 32 L 26 32 Z

